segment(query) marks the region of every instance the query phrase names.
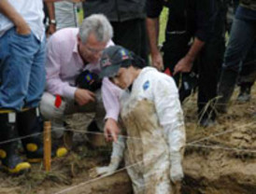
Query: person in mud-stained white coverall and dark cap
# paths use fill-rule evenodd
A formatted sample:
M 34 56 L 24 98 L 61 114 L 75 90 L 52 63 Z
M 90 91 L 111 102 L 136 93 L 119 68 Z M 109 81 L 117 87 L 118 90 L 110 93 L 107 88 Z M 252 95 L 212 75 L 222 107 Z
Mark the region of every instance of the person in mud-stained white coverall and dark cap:
M 142 68 L 143 61 L 121 46 L 106 48 L 100 63 L 101 76 L 121 88 L 121 123 L 128 138 L 125 144 L 120 135 L 110 164 L 91 175 L 115 173 L 126 146 L 125 165 L 135 194 L 178 193 L 186 137 L 173 78 L 153 67 Z

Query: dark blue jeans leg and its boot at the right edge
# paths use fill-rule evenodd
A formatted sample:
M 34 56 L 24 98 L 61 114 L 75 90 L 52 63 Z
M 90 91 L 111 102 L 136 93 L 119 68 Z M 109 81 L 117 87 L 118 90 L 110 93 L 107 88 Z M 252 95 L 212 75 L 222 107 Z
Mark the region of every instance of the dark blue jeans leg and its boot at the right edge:
M 225 112 L 227 104 L 235 89 L 235 83 L 239 72 L 242 69 L 249 48 L 255 43 L 256 19 L 239 20 L 235 19 L 230 34 L 230 40 L 224 55 L 222 64 L 218 94 L 218 109 Z

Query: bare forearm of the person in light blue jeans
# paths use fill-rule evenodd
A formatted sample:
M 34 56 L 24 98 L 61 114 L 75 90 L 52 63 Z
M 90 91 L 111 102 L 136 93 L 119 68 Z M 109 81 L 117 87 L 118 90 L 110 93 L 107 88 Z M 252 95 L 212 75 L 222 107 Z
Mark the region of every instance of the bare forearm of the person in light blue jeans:
M 7 0 L 0 1 L 0 12 L 14 23 L 19 35 L 28 35 L 31 33 L 31 29 L 26 21 L 24 21 L 21 15 L 7 2 Z

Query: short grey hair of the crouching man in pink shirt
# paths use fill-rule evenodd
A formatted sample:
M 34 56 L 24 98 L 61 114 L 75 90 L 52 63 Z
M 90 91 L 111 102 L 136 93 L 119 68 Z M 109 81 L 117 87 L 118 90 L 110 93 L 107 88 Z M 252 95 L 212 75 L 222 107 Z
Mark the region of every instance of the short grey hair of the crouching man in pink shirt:
M 113 28 L 107 17 L 103 14 L 92 14 L 84 19 L 79 27 L 79 37 L 83 44 L 88 36 L 93 33 L 99 42 L 107 42 L 113 37 Z

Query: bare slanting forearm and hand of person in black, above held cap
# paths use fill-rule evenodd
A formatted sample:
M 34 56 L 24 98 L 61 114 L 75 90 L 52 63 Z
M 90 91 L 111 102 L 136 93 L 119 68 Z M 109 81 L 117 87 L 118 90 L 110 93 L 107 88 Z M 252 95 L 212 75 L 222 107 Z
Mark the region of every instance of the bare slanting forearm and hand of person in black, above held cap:
M 176 64 L 174 75 L 176 75 L 178 72 L 190 72 L 192 70 L 192 62 L 195 60 L 204 45 L 205 42 L 195 37 L 192 43 L 192 48 L 190 48 L 186 56 L 179 60 L 179 62 Z

